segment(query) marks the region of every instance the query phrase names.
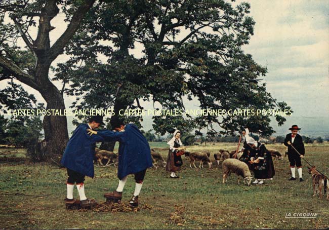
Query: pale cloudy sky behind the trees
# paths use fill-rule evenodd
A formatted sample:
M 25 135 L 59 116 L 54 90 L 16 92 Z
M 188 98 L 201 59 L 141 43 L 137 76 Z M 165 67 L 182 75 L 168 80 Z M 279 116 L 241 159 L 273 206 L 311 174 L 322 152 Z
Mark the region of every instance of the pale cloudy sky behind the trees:
M 278 101 L 287 102 L 293 116 L 329 118 L 329 1 L 251 0 L 234 4 L 241 2 L 251 4 L 250 16 L 256 21 L 250 44 L 243 50 L 267 67 L 263 82 L 268 92 Z M 64 31 L 63 20 L 63 14 L 53 19 L 56 29 L 51 32 L 51 44 Z M 31 34 L 33 37 L 36 31 Z M 67 58 L 61 55 L 53 64 Z M 0 84 L 0 88 L 5 86 L 4 81 Z M 61 84 L 55 85 L 61 88 Z M 26 89 L 44 101 L 33 89 Z M 68 108 L 74 98 L 65 96 L 64 100 Z M 197 104 L 188 102 L 186 108 L 196 108 Z

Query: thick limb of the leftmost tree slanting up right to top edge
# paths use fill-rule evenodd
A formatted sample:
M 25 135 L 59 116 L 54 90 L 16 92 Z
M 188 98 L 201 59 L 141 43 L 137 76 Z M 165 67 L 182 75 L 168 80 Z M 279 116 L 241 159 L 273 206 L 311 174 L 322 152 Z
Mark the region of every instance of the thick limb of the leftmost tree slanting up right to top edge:
M 93 6 L 95 1 L 96 0 L 86 0 L 85 3 L 75 11 L 67 29 L 49 51 L 51 62 L 54 61 L 57 58 L 57 56 L 63 52 L 64 47 L 70 41 L 70 39 L 78 29 L 81 21 L 84 19 L 84 16 L 88 12 L 88 10 Z

